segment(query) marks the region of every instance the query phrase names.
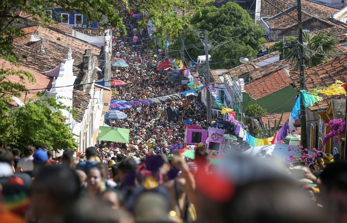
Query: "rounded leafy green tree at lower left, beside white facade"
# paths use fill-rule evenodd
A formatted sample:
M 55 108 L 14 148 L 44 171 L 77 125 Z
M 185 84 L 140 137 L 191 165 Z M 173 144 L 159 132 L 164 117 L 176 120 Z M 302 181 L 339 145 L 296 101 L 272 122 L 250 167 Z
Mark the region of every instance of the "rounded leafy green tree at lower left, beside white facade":
M 66 117 L 61 109 L 68 109 L 53 98 L 39 99 L 10 111 L 0 122 L 0 138 L 11 147 L 44 144 L 49 149 L 76 149 Z

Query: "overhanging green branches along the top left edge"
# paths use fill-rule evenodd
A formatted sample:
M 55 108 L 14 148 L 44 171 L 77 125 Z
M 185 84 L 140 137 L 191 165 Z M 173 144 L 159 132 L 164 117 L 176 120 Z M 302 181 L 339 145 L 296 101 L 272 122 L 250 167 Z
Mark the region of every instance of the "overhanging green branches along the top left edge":
M 33 15 L 33 19 L 41 24 L 52 22 L 47 10 L 62 8 L 66 11 L 76 9 L 83 14 L 86 25 L 90 22 L 102 22 L 104 27 L 117 27 L 125 32 L 122 18 L 127 12 L 142 15 L 139 25 L 144 27 L 151 19 L 158 32 L 170 28 L 172 32 L 181 30 L 181 18 L 165 16 L 173 9 L 194 9 L 200 0 L 2 0 L 0 2 L 0 56 L 14 60 L 12 51 L 13 37 L 22 36 L 21 30 L 13 24 L 21 24 L 19 12 Z

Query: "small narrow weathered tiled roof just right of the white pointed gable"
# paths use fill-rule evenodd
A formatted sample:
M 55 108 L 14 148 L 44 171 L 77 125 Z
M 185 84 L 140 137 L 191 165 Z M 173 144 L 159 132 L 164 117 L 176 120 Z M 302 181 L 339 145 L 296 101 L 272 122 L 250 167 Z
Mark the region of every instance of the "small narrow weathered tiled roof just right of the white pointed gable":
M 72 92 L 72 107 L 76 111 L 76 121 L 81 122 L 83 120 L 84 113 L 89 105 L 91 96 L 81 90 L 73 90 Z

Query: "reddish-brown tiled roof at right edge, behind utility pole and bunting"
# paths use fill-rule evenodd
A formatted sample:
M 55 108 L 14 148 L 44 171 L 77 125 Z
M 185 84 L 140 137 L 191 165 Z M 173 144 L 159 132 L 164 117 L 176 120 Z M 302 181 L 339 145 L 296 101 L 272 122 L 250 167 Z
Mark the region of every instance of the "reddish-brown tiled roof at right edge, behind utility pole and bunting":
M 291 79 L 295 86 L 300 86 L 299 74 L 297 71 L 290 72 Z M 347 83 L 347 55 L 335 56 L 328 61 L 319 64 L 318 66 L 311 67 L 305 70 L 305 82 L 306 90 L 312 91 L 317 87 L 319 89 L 328 87 L 335 83 L 336 80 L 340 80 L 343 83 Z M 325 110 L 329 106 L 329 102 L 332 98 L 345 99 L 344 95 L 327 97 L 320 95 L 322 98 L 321 102 L 316 103 L 310 107 L 311 111 Z

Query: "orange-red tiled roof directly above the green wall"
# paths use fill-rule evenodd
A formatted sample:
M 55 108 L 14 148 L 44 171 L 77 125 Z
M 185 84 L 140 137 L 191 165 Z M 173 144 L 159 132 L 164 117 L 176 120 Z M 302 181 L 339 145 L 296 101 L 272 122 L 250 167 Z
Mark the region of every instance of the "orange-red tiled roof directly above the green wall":
M 263 98 L 289 86 L 289 84 L 292 83 L 286 72 L 288 72 L 286 69 L 276 71 L 266 77 L 253 81 L 250 84 L 246 84 L 244 90 L 254 99 Z

